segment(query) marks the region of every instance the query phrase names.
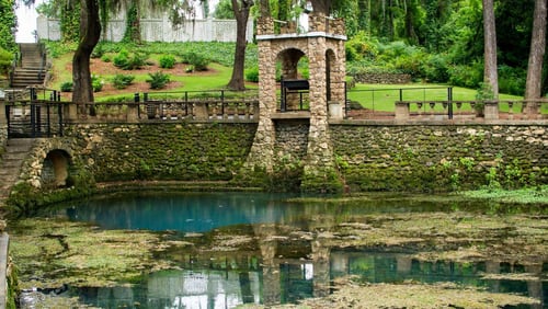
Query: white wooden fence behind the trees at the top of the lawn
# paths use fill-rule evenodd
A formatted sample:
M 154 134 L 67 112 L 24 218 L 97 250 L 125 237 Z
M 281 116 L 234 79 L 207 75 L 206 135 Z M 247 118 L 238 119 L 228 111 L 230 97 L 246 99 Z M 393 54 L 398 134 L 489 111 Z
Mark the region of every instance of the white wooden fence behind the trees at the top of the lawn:
M 59 41 L 61 31 L 59 20 L 37 18 L 38 38 Z M 235 20 L 190 20 L 173 27 L 169 18 L 141 19 L 141 39 L 146 42 L 236 42 Z M 119 42 L 124 37 L 125 20 L 112 20 L 106 27 L 105 41 Z M 253 39 L 253 22 L 248 22 L 247 41 Z

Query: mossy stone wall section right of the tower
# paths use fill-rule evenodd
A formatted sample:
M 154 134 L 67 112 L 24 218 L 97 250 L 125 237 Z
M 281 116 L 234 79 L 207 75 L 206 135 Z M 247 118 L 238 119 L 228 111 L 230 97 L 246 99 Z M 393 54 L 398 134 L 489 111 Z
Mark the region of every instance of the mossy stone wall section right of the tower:
M 351 191 L 450 191 L 548 183 L 548 126 L 332 125 Z

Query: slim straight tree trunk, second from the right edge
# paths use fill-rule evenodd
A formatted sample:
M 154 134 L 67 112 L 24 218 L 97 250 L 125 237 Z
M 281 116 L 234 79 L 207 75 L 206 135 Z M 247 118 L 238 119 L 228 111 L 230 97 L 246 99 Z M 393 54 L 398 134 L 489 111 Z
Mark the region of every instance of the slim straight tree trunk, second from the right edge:
M 483 82 L 489 83 L 493 99 L 499 98 L 499 75 L 496 72 L 496 31 L 493 0 L 483 0 Z

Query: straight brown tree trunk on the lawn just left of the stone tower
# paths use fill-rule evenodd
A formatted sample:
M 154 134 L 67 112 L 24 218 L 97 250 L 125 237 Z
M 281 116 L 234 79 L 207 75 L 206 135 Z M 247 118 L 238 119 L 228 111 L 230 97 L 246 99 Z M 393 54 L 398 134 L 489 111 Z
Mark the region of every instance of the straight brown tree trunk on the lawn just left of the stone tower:
M 236 18 L 236 53 L 235 64 L 232 67 L 232 76 L 227 84 L 227 88 L 232 90 L 244 90 L 246 83 L 243 80 L 243 68 L 246 64 L 246 32 L 248 27 L 249 10 L 253 2 L 243 0 L 241 7 L 238 5 L 238 0 L 232 0 L 232 9 Z

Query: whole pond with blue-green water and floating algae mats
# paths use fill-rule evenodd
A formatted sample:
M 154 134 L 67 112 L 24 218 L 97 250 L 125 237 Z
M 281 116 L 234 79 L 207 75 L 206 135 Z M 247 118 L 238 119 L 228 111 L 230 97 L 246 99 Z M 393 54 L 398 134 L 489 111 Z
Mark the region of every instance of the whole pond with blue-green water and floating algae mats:
M 45 298 L 82 308 L 270 306 L 381 285 L 445 285 L 452 306 L 473 289 L 480 304 L 544 308 L 547 219 L 544 206 L 455 196 L 140 193 L 49 208 L 11 233 L 23 308 Z

